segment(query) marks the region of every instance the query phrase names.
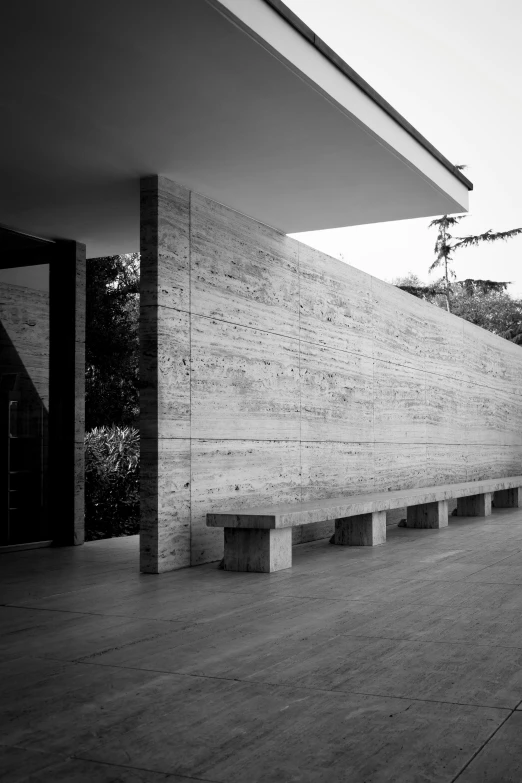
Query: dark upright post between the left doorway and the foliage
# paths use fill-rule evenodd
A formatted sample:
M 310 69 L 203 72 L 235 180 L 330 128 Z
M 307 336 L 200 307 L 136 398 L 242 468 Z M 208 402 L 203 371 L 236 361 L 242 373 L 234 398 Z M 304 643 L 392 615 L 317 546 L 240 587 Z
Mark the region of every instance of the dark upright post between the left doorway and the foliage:
M 57 544 L 84 542 L 85 245 L 49 260 L 49 524 Z

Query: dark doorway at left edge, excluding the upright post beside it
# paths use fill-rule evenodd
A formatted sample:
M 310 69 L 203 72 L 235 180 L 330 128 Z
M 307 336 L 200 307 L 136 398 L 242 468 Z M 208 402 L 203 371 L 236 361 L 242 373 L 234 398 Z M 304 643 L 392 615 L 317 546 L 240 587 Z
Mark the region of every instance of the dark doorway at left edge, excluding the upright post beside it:
M 51 538 L 49 245 L 0 229 L 0 546 Z

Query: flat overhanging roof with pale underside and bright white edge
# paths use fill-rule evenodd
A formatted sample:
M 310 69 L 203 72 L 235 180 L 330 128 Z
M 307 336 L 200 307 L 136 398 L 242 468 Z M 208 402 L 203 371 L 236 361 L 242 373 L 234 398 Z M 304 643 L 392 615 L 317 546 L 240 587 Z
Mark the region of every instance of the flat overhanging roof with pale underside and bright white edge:
M 285 233 L 468 209 L 471 183 L 279 0 L 11 3 L 0 224 L 139 247 L 141 176 Z

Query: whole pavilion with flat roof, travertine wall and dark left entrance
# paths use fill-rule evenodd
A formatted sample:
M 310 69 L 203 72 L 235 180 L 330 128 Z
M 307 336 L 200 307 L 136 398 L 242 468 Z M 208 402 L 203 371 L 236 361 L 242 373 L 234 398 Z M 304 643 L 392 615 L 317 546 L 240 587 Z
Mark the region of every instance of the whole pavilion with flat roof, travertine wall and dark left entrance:
M 142 570 L 218 559 L 231 498 L 519 472 L 519 349 L 286 236 L 467 210 L 393 107 L 278 0 L 30 5 L 0 54 L 4 546 L 83 542 L 85 259 L 138 249 Z

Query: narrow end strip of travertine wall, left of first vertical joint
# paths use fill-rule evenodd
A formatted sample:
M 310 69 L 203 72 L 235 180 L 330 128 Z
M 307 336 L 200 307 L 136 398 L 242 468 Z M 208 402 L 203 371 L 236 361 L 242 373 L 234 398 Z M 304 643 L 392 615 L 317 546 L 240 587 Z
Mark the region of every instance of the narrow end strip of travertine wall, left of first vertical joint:
M 190 193 L 140 196 L 140 568 L 190 565 Z

